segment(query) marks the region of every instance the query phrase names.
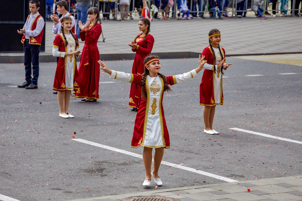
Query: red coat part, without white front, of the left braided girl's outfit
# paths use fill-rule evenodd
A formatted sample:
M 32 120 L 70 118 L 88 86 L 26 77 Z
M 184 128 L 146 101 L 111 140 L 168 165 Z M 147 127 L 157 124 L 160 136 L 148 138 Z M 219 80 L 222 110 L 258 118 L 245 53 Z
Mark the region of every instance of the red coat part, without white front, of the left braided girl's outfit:
M 76 40 L 78 40 L 78 36 L 75 35 Z M 59 47 L 61 52 L 66 52 L 65 49 L 65 40 L 61 34 L 56 35 L 54 41 L 53 41 L 53 46 Z M 79 46 L 75 47 L 75 50 L 78 49 Z M 59 57 L 59 61 L 57 64 L 56 68 L 56 74 L 55 74 L 55 79 L 53 82 L 53 90 L 55 91 L 66 91 L 66 83 L 65 83 L 65 75 L 66 75 L 66 58 L 65 57 Z M 74 76 L 73 76 L 73 90 L 78 90 L 79 89 L 79 73 L 78 69 L 76 67 L 76 61 L 74 62 Z

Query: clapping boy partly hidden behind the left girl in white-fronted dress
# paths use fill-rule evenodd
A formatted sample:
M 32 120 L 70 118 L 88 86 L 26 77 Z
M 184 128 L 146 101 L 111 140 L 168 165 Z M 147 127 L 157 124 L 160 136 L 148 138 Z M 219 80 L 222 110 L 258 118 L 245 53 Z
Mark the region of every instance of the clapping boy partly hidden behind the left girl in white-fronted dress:
M 56 2 L 57 5 L 57 12 L 58 14 L 62 14 L 62 17 L 70 17 L 72 20 L 72 33 L 75 33 L 75 18 L 68 12 L 68 3 L 65 0 L 61 0 L 59 2 Z M 61 33 L 61 20 L 62 17 L 59 19 L 59 16 L 56 14 L 53 14 L 50 16 L 51 20 L 53 20 L 53 33 L 54 34 L 60 34 Z

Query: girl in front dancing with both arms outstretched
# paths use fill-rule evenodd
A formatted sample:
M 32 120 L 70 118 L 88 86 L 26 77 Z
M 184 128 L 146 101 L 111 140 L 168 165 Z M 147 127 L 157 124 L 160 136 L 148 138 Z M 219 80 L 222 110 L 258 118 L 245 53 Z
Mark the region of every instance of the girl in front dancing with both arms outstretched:
M 142 97 L 135 119 L 131 147 L 144 147 L 143 162 L 146 179 L 143 182 L 143 186 L 150 186 L 151 176 L 157 186 L 162 185 L 162 181 L 158 176 L 159 165 L 162 161 L 164 148 L 170 148 L 169 133 L 162 107 L 164 91 L 171 90 L 168 84 L 173 85 L 196 77 L 206 62 L 204 61 L 204 56 L 201 57 L 199 55 L 198 68 L 188 73 L 165 77 L 159 73 L 161 65 L 157 56 L 147 56 L 144 59 L 145 68 L 142 75 L 109 70 L 102 61 L 98 61 L 101 66 L 100 69 L 108 73 L 110 78 L 142 86 Z M 153 171 L 151 173 L 152 148 L 155 148 L 155 153 Z

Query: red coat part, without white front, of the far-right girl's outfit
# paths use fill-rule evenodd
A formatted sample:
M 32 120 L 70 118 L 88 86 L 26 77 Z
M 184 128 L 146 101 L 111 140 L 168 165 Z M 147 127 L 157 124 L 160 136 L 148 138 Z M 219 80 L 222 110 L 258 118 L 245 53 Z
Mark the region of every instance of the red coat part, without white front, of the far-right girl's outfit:
M 221 47 L 220 47 L 221 48 Z M 223 58 L 225 58 L 225 50 L 221 48 L 223 52 Z M 202 55 L 205 56 L 204 60 L 207 60 L 207 64 L 214 65 L 214 52 L 210 49 L 210 46 L 207 46 L 203 51 Z M 216 69 L 217 70 L 217 69 Z M 214 105 L 223 105 L 223 93 L 222 93 L 222 83 L 221 84 L 221 97 L 219 104 L 215 103 L 214 99 L 214 71 L 204 69 L 202 75 L 201 83 L 199 86 L 200 90 L 200 102 L 199 105 L 214 106 Z M 222 81 L 222 78 L 221 78 Z

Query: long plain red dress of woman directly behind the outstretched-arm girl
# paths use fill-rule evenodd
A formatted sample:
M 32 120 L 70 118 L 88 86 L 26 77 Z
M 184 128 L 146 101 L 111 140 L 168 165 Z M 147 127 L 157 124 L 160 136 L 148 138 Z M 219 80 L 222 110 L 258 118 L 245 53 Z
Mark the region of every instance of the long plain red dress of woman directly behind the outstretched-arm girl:
M 146 37 L 146 41 L 143 42 L 144 37 L 145 36 L 139 36 L 136 39 L 135 43 L 139 46 L 137 49 L 132 50 L 133 52 L 136 52 L 133 66 L 132 66 L 132 74 L 143 74 L 145 68 L 144 59 L 146 58 L 146 56 L 149 56 L 153 48 L 153 44 L 154 44 L 153 36 L 150 33 L 148 33 Z M 140 105 L 140 96 L 141 96 L 140 84 L 131 83 L 129 107 L 138 108 L 138 106 Z

